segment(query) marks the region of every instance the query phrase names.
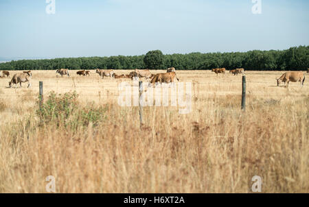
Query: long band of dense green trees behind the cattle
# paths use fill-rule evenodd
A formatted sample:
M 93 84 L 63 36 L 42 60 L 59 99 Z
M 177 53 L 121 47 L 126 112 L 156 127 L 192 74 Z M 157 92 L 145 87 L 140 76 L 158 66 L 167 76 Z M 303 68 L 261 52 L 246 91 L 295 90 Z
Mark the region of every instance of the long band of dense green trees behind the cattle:
M 167 69 L 174 67 L 176 70 L 244 68 L 247 71 L 299 71 L 307 70 L 308 66 L 309 47 L 299 46 L 282 51 L 253 50 L 163 55 L 161 51 L 157 50 L 142 56 L 17 60 L 1 63 L 0 70 Z

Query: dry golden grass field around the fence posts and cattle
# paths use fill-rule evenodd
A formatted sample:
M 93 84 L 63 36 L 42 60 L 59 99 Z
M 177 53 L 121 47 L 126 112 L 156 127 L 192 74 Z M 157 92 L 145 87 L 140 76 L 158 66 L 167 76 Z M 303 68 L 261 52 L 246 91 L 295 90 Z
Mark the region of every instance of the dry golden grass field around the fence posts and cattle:
M 32 71 L 32 88 L 8 88 L 0 78 L 0 193 L 46 193 L 48 175 L 56 193 L 252 193 L 254 175 L 263 193 L 309 193 L 309 76 L 287 89 L 282 71 L 245 73 L 246 112 L 242 75 L 178 71 L 192 112 L 145 107 L 141 127 L 138 107 L 117 104 L 124 80 Z M 39 81 L 45 103 L 52 91 L 78 97 L 39 115 Z

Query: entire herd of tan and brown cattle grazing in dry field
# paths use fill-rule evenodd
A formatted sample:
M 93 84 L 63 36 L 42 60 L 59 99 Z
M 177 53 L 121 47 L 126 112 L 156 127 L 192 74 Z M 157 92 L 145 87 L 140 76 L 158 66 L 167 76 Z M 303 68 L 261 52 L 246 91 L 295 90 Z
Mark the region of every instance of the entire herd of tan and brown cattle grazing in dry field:
M 222 75 L 225 75 L 225 68 L 222 69 L 212 69 L 212 72 L 216 73 L 218 76 L 218 73 L 222 73 Z M 1 71 L 0 71 L 1 72 Z M 70 77 L 69 74 L 69 69 L 58 69 L 56 73 L 59 73 L 61 77 L 63 75 L 67 75 Z M 104 77 L 111 77 L 115 79 L 120 79 L 120 78 L 128 78 L 133 80 L 135 77 L 144 77 L 150 84 L 155 86 L 156 83 L 173 83 L 174 79 L 179 81 L 179 78 L 176 76 L 176 69 L 174 67 L 167 69 L 166 73 L 157 73 L 157 74 L 152 74 L 150 73 L 149 69 L 145 70 L 139 70 L 135 69 L 135 71 L 130 72 L 127 75 L 117 75 L 114 73 L 113 70 L 103 70 L 103 69 L 96 69 L 95 73 L 98 73 L 102 79 Z M 242 74 L 244 75 L 244 69 L 233 69 L 229 71 L 229 73 L 232 73 L 233 75 L 238 75 Z M 309 69 L 307 70 L 307 73 L 309 73 Z M 90 71 L 78 71 L 76 72 L 77 75 L 83 75 L 83 76 L 90 76 Z M 2 71 L 2 75 L 0 74 L 0 77 L 10 77 L 10 72 L 9 71 Z M 13 77 L 12 80 L 9 82 L 10 88 L 12 87 L 13 84 L 20 84 L 22 82 L 28 82 L 28 88 L 31 87 L 31 77 L 32 77 L 32 72 L 31 71 L 23 71 L 23 73 L 16 73 Z M 281 77 L 276 78 L 277 80 L 277 86 L 284 82 L 285 86 L 288 87 L 289 82 L 300 82 L 301 86 L 304 85 L 305 81 L 305 75 L 302 72 L 286 72 L 284 73 Z

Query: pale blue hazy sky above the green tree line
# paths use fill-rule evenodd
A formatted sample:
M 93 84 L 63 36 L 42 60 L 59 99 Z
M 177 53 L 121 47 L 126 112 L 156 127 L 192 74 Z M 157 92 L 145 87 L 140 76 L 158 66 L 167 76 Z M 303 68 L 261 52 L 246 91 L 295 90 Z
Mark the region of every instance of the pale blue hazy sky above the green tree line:
M 288 49 L 309 45 L 309 1 L 0 1 L 1 58 L 133 56 Z

